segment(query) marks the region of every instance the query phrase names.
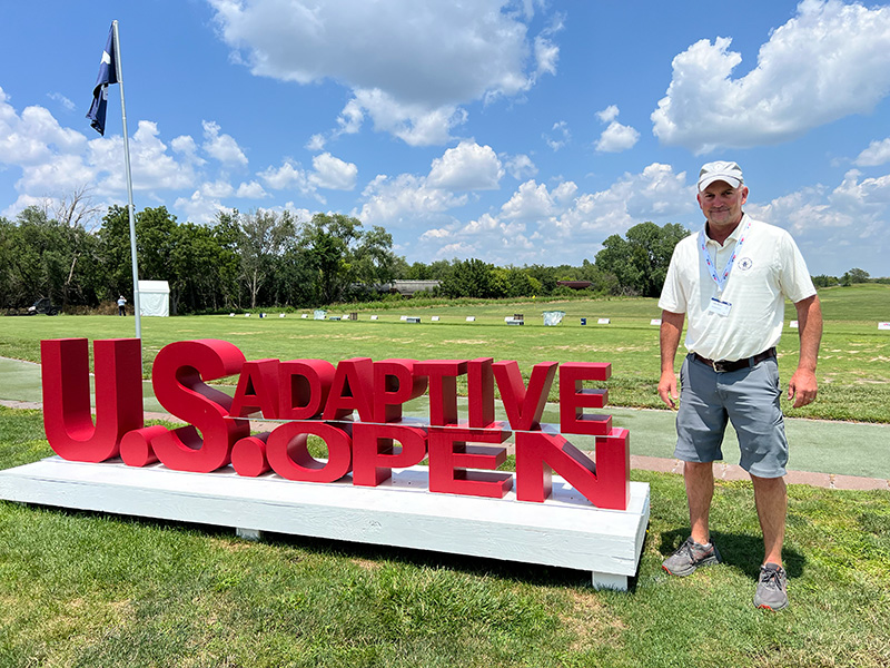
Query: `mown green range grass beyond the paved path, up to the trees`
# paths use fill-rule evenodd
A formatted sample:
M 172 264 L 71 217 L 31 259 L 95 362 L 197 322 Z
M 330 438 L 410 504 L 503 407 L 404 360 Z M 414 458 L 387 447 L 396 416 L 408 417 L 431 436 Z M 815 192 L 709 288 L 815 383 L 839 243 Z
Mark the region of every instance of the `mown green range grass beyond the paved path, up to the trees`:
M 789 416 L 890 422 L 890 286 L 860 285 L 820 293 L 825 316 L 818 376 L 820 399 L 799 410 L 784 404 Z M 387 304 L 390 306 L 390 304 Z M 545 327 L 542 312 L 566 313 L 558 326 Z M 172 341 L 222 338 L 236 344 L 248 360 L 320 357 L 330 362 L 367 356 L 423 358 L 516 360 L 526 374 L 537 362 L 610 362 L 607 383 L 613 405 L 662 407 L 657 397 L 659 317 L 655 299 L 572 299 L 563 302 L 482 303 L 419 307 L 406 301 L 399 308 L 362 311 L 358 306 L 330 314 L 359 313 L 355 322 L 303 320 L 289 313 L 279 318 L 238 315 L 142 318 L 144 372 L 150 375 L 157 352 Z M 526 324 L 511 326 L 504 317 L 523 313 Z M 377 314 L 377 321 L 370 321 Z M 408 324 L 400 315 L 419 315 Z M 439 322 L 431 322 L 438 315 Z M 467 316 L 476 321 L 466 322 Z M 581 325 L 581 318 L 587 325 Z M 601 317 L 609 325 L 597 324 Z M 787 320 L 794 320 L 792 305 Z M 0 355 L 39 362 L 39 341 L 65 336 L 132 336 L 131 317 L 57 316 L 0 317 Z M 787 328 L 779 347 L 780 373 L 790 379 L 798 358 L 798 333 Z M 678 369 L 680 358 L 678 356 Z M 552 395 L 555 397 L 555 393 Z

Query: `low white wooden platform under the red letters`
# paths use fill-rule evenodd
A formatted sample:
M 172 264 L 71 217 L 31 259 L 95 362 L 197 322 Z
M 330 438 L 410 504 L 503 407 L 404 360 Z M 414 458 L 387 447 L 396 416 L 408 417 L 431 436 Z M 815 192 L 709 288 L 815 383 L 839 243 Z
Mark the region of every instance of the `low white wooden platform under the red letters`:
M 545 503 L 431 493 L 422 466 L 360 488 L 51 456 L 0 471 L 0 499 L 231 527 L 245 538 L 269 531 L 572 568 L 622 590 L 649 525 L 646 483 L 631 483 L 626 511 L 597 510 L 557 477 Z

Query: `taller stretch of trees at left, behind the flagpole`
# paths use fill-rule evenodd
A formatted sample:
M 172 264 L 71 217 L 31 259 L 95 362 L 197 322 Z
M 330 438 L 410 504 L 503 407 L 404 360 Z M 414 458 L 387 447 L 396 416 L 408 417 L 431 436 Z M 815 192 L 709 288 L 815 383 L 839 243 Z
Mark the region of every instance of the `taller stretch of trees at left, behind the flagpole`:
M 385 283 L 405 267 L 382 227 L 316 214 L 220 213 L 211 226 L 177 223 L 166 207 L 136 214 L 140 279 L 168 281 L 172 313 L 309 306 L 350 298 L 355 283 Z M 132 294 L 129 216 L 112 206 L 101 226 L 29 207 L 0 218 L 0 306 L 49 297 L 62 308 L 96 307 Z

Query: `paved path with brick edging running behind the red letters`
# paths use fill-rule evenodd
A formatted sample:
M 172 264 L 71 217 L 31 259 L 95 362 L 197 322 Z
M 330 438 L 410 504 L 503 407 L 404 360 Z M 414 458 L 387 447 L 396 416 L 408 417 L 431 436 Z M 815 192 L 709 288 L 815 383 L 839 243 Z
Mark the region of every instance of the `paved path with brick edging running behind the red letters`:
M 40 365 L 0 357 L 0 404 L 11 407 L 40 409 Z M 234 391 L 234 387 L 231 389 Z M 142 385 L 147 420 L 175 420 L 157 402 L 151 383 Z M 426 401 L 412 402 L 406 413 L 427 415 Z M 631 464 L 634 469 L 681 473 L 682 462 L 672 458 L 674 415 L 671 411 L 607 406 L 614 426 L 631 432 Z M 505 419 L 498 414 L 498 419 Z M 558 423 L 558 409 L 548 405 L 544 422 Z M 265 429 L 258 421 L 255 429 Z M 785 418 L 791 444 L 788 482 L 837 489 L 890 490 L 890 424 L 831 422 Z M 592 441 L 573 438 L 582 450 L 592 449 Z M 744 480 L 748 474 L 732 462 L 738 461 L 738 444 L 732 429 L 726 430 L 723 453 L 728 463 L 718 463 L 716 475 L 726 480 Z

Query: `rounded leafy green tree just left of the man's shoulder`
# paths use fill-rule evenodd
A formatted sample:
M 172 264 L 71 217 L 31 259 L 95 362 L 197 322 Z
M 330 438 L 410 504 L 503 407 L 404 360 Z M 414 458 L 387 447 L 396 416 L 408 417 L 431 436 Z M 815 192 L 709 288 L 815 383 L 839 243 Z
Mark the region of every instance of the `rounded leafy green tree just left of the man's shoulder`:
M 689 230 L 681 225 L 634 225 L 626 239 L 612 235 L 603 242 L 603 249 L 596 254 L 596 267 L 614 275 L 622 289 L 656 297 L 664 285 L 674 246 L 688 235 Z

